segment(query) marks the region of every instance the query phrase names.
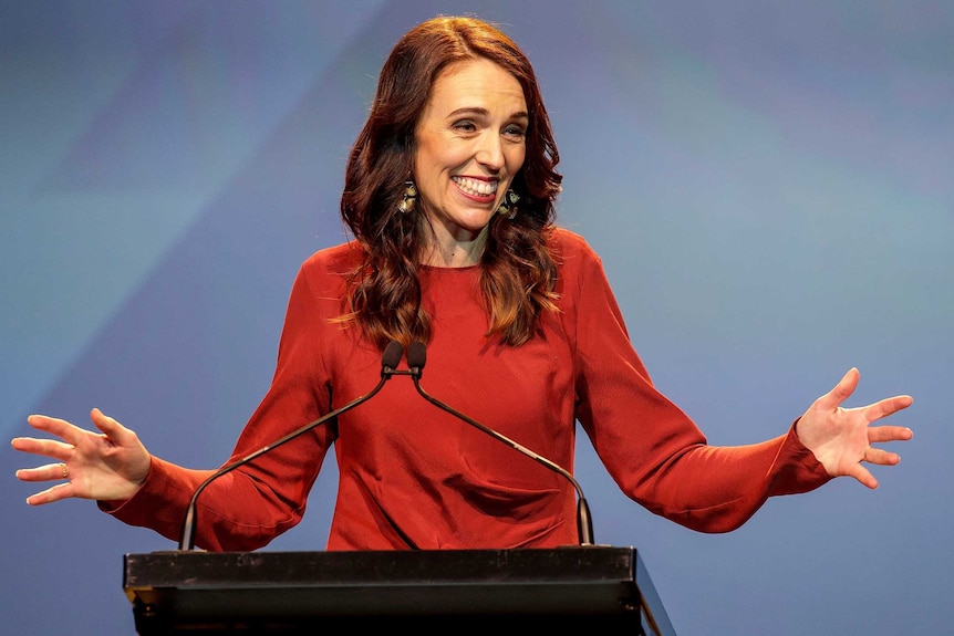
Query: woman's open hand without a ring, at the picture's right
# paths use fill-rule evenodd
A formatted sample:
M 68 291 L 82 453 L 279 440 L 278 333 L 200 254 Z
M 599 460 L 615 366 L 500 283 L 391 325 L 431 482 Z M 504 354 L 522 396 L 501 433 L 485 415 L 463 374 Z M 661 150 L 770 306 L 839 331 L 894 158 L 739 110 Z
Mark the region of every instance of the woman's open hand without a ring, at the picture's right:
M 870 426 L 913 404 L 909 395 L 898 395 L 857 408 L 842 408 L 858 386 L 859 373 L 851 368 L 828 394 L 801 416 L 796 431 L 801 442 L 831 477 L 853 477 L 868 488 L 878 488 L 878 480 L 862 462 L 894 466 L 901 461 L 895 452 L 875 448 L 873 444 L 902 441 L 913 436 L 903 426 Z

